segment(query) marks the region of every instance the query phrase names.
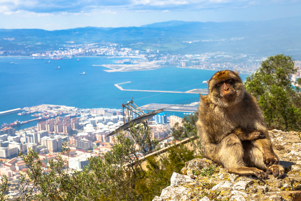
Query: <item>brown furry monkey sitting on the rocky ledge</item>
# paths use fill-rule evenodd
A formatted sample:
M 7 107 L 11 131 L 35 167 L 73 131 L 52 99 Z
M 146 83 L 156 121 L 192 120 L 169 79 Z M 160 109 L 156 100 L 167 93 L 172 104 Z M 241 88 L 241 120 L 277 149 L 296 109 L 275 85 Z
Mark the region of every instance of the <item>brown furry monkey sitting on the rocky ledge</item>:
M 238 72 L 218 71 L 207 86 L 209 93 L 200 95 L 196 123 L 204 157 L 229 173 L 282 177 L 284 168 L 272 148 L 262 110 Z

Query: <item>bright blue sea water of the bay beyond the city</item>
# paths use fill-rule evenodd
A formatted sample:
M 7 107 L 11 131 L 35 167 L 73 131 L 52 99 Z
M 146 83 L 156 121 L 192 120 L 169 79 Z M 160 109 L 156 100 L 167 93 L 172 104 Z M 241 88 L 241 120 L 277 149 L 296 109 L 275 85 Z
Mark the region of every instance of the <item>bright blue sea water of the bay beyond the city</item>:
M 123 101 L 127 102 L 132 98 L 138 106 L 149 103 L 187 104 L 197 102 L 199 95 L 121 91 L 114 84 L 130 81 L 131 83 L 120 86 L 132 90 L 184 92 L 206 88 L 206 84 L 202 82 L 210 79 L 215 73 L 209 70 L 176 67 L 108 73 L 104 71 L 107 68 L 93 65 L 114 64 L 123 58 L 79 57 L 79 61 L 77 59 L 0 57 L 0 111 L 40 104 L 121 109 Z M 47 61 L 50 63 L 45 63 Z M 61 69 L 55 69 L 58 66 Z M 84 71 L 85 75 L 79 75 Z M 246 77 L 241 76 L 243 79 Z M 30 115 L 19 116 L 17 113 L 3 115 L 0 116 L 0 124 L 32 118 Z M 33 125 L 23 124 L 22 127 L 34 125 L 36 122 L 33 122 Z

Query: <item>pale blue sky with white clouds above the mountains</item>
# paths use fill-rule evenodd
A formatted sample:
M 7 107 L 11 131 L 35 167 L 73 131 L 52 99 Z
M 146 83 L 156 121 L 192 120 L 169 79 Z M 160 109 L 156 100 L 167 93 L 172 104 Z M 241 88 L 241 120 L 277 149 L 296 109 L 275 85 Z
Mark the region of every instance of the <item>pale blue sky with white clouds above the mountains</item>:
M 301 16 L 300 0 L 0 0 L 0 28 L 129 27 Z

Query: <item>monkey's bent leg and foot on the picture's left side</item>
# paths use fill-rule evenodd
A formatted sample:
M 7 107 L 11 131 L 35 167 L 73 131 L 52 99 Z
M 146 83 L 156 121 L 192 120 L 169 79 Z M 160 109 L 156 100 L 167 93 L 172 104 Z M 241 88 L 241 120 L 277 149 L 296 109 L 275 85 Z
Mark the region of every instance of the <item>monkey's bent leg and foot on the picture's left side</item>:
M 244 149 L 241 141 L 234 133 L 230 133 L 219 143 L 218 160 L 219 163 L 230 173 L 238 175 L 255 175 L 259 179 L 268 175 L 257 168 L 246 167 L 244 163 Z

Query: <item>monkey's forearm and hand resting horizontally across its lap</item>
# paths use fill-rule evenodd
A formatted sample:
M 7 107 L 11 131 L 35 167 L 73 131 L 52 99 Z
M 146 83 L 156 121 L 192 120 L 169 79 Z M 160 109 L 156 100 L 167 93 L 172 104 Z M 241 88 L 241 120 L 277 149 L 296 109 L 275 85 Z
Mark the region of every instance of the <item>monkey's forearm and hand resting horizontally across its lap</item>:
M 238 139 L 241 141 L 243 140 L 257 140 L 257 139 L 263 139 L 265 138 L 265 135 L 258 131 L 253 129 L 247 129 L 242 127 L 235 128 L 232 133 L 234 133 Z

